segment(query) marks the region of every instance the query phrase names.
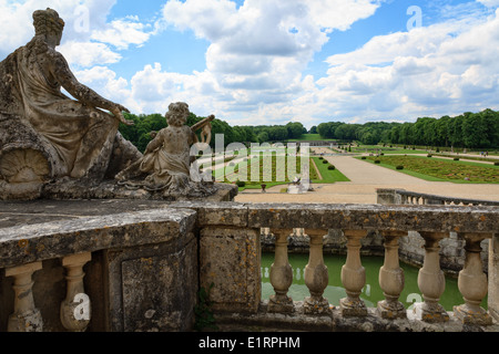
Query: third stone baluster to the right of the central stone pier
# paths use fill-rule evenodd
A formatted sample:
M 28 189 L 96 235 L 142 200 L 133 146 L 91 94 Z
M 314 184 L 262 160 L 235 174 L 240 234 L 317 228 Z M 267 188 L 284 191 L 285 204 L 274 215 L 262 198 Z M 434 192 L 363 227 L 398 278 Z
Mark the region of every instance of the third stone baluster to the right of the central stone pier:
M 344 316 L 365 316 L 367 308 L 360 293 L 366 284 L 366 270 L 360 262 L 360 239 L 366 230 L 344 230 L 347 238 L 347 259 L 342 267 L 342 283 L 347 296 L 339 300 L 339 309 Z

